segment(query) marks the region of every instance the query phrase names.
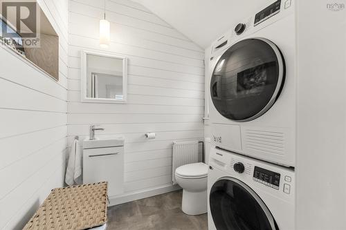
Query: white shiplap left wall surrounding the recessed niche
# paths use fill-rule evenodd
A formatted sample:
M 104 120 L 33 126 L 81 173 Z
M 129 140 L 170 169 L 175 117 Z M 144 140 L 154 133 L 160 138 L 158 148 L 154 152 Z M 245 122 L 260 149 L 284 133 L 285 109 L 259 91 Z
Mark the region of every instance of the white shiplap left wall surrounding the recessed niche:
M 60 79 L 0 47 L 0 229 L 22 229 L 64 182 L 69 2 L 38 2 L 60 36 Z

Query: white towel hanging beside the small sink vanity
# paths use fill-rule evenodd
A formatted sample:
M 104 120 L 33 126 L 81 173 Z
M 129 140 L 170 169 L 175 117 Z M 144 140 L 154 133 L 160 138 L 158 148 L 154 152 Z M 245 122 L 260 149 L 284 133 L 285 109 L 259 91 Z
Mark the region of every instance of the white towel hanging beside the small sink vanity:
M 67 163 L 65 182 L 70 186 L 82 183 L 82 153 L 80 153 L 80 145 L 78 140 L 74 140 L 71 151 L 69 153 L 69 161 Z

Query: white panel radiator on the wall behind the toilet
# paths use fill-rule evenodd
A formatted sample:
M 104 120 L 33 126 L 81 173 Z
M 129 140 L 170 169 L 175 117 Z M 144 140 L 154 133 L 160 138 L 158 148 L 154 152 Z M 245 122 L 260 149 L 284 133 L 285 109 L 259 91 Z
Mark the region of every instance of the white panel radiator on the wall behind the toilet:
M 172 184 L 176 184 L 175 170 L 179 166 L 198 162 L 199 141 L 173 142 Z

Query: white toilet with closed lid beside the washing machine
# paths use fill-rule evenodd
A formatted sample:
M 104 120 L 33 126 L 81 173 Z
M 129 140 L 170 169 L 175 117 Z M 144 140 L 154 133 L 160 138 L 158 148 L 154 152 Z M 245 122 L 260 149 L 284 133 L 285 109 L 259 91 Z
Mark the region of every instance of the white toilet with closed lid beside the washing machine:
M 176 182 L 183 188 L 183 212 L 188 215 L 207 213 L 208 165 L 185 164 L 175 171 Z

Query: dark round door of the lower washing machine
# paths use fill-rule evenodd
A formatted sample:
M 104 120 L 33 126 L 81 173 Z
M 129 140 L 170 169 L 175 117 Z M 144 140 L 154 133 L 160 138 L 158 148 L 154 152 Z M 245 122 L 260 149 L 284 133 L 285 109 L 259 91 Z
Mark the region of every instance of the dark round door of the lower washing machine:
M 244 182 L 235 178 L 222 178 L 215 182 L 210 190 L 209 202 L 217 229 L 279 229 L 261 198 Z

